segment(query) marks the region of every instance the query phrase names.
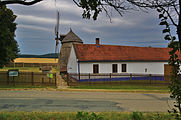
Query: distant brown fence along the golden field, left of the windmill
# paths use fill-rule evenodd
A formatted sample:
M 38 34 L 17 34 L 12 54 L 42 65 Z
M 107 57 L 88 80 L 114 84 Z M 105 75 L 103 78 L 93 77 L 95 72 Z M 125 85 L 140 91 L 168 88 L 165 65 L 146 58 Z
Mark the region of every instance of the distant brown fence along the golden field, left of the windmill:
M 9 63 L 5 67 L 41 67 L 52 66 L 57 67 L 57 63 Z

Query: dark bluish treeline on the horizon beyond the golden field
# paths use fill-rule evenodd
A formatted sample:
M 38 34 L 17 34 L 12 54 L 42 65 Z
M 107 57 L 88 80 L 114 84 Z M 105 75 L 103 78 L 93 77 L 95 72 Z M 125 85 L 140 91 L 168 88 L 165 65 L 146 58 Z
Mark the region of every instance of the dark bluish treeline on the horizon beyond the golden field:
M 58 58 L 59 53 L 49 53 L 44 55 L 28 55 L 28 54 L 21 54 L 18 55 L 18 58 Z

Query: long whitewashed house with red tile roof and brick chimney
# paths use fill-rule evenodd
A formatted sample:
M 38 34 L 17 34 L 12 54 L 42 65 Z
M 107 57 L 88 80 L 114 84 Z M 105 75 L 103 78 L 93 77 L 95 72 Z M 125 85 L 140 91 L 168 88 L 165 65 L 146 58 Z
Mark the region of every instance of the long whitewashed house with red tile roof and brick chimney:
M 164 74 L 168 64 L 168 48 L 74 44 L 71 48 L 68 73 L 138 73 Z

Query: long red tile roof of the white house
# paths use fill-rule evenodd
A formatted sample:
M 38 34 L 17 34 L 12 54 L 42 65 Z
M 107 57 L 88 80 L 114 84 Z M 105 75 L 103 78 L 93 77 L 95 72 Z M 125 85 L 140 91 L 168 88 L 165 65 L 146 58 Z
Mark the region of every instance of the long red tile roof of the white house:
M 168 61 L 168 48 L 75 44 L 79 61 Z M 181 55 L 179 55 L 181 58 Z

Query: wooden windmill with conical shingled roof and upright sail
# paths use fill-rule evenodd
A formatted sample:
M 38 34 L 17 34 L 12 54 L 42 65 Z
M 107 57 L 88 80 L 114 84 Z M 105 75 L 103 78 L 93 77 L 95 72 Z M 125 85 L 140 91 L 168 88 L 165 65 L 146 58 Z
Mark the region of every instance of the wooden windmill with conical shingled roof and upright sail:
M 70 31 L 66 34 L 60 34 L 59 37 L 59 12 L 57 11 L 57 24 L 55 26 L 55 40 L 56 40 L 56 46 L 55 46 L 55 53 L 58 49 L 59 40 L 61 41 L 61 50 L 58 60 L 58 69 L 60 70 L 60 73 L 66 73 L 67 72 L 67 63 L 68 58 L 70 56 L 71 47 L 73 44 L 83 44 L 82 40 L 70 29 Z

